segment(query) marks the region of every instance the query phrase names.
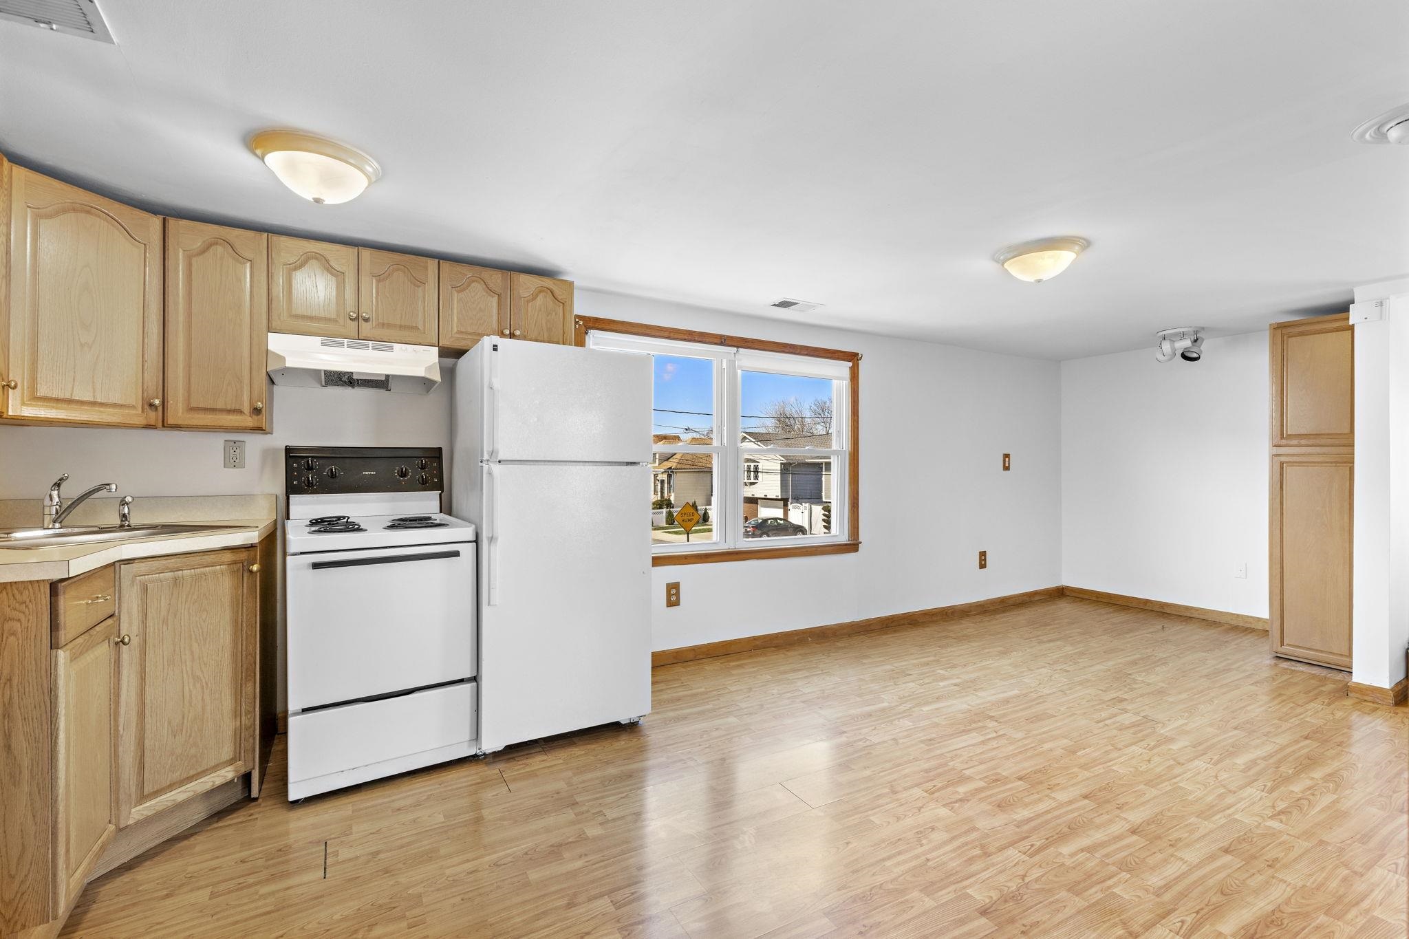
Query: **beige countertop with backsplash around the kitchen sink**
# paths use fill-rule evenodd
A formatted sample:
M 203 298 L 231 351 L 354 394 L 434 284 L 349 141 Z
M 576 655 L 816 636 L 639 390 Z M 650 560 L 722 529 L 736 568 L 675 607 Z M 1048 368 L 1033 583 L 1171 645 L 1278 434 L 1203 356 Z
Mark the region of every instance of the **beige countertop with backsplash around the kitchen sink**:
M 0 528 L 38 527 L 39 500 L 0 500 Z M 90 498 L 66 519 L 72 525 L 117 522 L 116 498 Z M 132 524 L 206 524 L 211 531 L 92 541 L 52 548 L 0 548 L 0 581 L 62 580 L 117 560 L 187 555 L 199 550 L 255 545 L 275 531 L 278 503 L 273 496 L 173 496 L 132 501 Z M 218 528 L 217 528 L 218 527 Z

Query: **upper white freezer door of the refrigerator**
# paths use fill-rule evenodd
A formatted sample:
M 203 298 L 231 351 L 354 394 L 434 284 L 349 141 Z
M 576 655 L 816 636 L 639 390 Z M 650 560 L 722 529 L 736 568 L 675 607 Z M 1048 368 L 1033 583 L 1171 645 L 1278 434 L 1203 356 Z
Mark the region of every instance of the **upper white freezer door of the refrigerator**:
M 483 459 L 651 460 L 648 356 L 514 339 L 480 346 Z

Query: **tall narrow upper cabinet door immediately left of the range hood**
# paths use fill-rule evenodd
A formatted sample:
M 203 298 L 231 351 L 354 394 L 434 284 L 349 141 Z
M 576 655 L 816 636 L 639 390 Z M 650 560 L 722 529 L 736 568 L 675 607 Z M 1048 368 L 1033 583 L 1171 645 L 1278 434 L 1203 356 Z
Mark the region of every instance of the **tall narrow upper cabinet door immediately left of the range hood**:
M 166 427 L 265 429 L 268 241 L 166 220 Z

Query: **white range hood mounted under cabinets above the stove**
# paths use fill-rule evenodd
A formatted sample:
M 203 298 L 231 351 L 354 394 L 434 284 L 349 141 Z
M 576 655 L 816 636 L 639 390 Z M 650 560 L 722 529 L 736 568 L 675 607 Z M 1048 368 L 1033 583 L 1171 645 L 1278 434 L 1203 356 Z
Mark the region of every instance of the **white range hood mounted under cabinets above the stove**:
M 440 384 L 435 346 L 269 334 L 269 379 L 304 389 L 426 394 Z

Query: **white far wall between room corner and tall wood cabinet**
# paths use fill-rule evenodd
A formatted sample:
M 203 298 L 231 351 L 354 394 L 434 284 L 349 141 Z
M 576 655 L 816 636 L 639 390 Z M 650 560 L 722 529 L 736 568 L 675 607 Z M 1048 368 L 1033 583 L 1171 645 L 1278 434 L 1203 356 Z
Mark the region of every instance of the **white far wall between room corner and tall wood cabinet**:
M 1265 617 L 1268 394 L 1265 332 L 1062 362 L 1062 583 Z

